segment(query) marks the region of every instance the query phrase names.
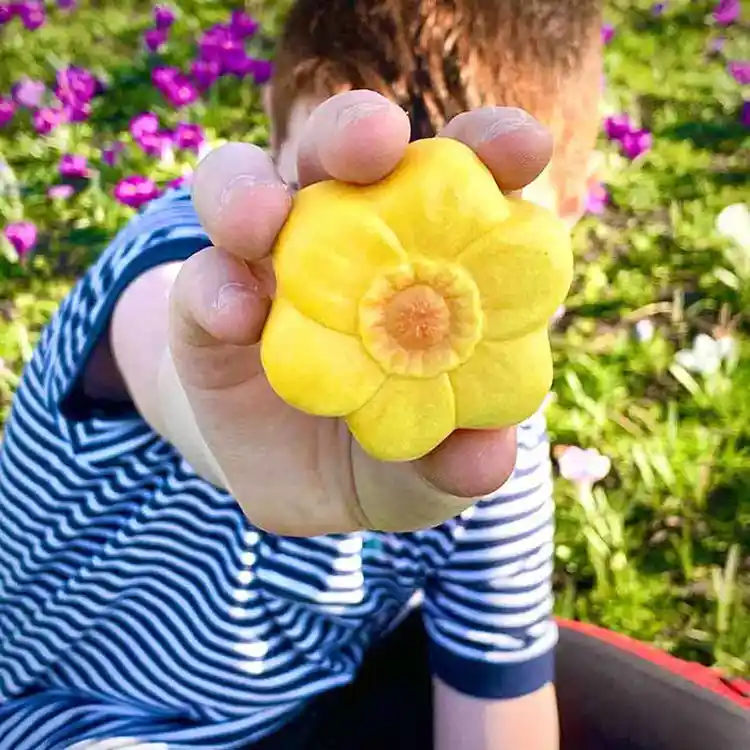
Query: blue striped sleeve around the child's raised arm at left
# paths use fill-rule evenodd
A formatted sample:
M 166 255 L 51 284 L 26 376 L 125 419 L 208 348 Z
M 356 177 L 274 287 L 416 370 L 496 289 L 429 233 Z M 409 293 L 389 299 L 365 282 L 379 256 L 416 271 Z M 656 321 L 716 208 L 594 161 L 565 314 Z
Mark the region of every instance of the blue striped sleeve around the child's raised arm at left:
M 68 419 L 96 411 L 131 410 L 132 405 L 93 403 L 80 378 L 97 343 L 106 335 L 117 300 L 138 276 L 155 266 L 181 261 L 209 245 L 190 194 L 172 190 L 133 218 L 75 285 L 45 331 L 45 392 L 49 406 Z

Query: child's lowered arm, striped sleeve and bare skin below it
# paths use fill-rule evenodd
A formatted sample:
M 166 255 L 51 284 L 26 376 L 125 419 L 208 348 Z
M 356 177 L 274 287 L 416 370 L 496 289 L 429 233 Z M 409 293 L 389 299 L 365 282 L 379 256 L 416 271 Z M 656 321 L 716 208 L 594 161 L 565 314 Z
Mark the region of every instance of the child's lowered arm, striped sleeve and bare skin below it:
M 459 519 L 425 586 L 437 750 L 557 750 L 551 491 L 537 414 L 513 475 Z

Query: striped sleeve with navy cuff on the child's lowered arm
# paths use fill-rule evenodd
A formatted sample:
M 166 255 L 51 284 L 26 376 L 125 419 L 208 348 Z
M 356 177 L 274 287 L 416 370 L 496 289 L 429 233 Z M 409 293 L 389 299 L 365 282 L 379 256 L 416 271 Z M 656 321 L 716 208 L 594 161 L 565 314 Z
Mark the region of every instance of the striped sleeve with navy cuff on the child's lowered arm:
M 549 444 L 537 414 L 518 430 L 513 475 L 462 514 L 425 587 L 433 670 L 448 685 L 508 699 L 552 681 L 553 534 Z

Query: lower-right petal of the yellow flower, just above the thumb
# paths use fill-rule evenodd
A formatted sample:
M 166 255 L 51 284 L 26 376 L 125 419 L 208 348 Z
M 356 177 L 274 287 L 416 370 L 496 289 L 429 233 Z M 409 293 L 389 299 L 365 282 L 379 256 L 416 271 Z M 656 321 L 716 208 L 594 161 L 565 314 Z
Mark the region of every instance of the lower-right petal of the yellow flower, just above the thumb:
M 450 373 L 456 424 L 484 429 L 518 424 L 542 405 L 552 384 L 546 328 L 514 341 L 480 341 L 474 355 Z

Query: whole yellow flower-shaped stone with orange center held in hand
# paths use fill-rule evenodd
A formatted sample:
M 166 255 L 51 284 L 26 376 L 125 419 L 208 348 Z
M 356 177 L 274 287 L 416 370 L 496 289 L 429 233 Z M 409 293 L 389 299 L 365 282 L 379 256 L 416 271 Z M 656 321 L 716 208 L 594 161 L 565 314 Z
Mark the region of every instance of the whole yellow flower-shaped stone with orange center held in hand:
M 572 277 L 567 229 L 503 196 L 457 141 L 410 144 L 375 185 L 305 188 L 273 260 L 261 343 L 271 387 L 345 418 L 376 458 L 419 458 L 456 428 L 517 424 L 549 390 L 548 321 Z

